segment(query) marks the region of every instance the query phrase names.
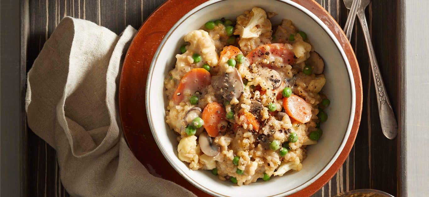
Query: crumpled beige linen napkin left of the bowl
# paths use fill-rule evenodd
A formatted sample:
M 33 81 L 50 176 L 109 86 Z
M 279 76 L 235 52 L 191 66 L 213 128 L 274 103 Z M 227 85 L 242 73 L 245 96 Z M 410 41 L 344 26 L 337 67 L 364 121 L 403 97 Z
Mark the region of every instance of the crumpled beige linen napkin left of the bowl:
M 194 196 L 151 175 L 122 134 L 118 74 L 134 34 L 65 17 L 28 72 L 28 126 L 57 151 L 72 196 Z

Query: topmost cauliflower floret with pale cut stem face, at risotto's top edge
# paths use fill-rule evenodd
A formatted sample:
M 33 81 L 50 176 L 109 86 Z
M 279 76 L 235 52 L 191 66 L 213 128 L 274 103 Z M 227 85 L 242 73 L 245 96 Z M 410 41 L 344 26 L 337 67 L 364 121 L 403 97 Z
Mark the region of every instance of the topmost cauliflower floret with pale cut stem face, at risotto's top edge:
M 271 43 L 271 22 L 267 18 L 266 12 L 254 7 L 252 11 L 239 15 L 234 35 L 240 35 L 238 43 L 244 55 L 257 46 Z

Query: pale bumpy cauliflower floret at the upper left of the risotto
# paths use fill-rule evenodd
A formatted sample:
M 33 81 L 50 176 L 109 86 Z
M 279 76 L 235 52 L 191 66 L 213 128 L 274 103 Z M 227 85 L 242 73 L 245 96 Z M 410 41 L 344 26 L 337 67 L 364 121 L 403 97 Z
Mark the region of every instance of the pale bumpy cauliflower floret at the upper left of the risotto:
M 201 55 L 202 61 L 200 61 L 199 64 L 202 65 L 207 62 L 211 66 L 218 65 L 219 56 L 218 53 L 216 53 L 215 42 L 211 36 L 208 35 L 207 31 L 191 31 L 186 34 L 184 40 L 190 43 L 190 45 L 187 46 L 187 51 L 199 53 Z

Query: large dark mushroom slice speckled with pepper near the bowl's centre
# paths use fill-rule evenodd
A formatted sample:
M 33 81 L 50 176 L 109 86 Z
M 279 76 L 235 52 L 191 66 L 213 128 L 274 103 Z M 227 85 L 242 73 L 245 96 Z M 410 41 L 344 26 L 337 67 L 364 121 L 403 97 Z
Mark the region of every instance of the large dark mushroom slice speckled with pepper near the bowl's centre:
M 213 76 L 211 86 L 228 101 L 233 98 L 239 98 L 244 89 L 243 80 L 236 68 L 232 72 L 223 72 L 220 75 Z

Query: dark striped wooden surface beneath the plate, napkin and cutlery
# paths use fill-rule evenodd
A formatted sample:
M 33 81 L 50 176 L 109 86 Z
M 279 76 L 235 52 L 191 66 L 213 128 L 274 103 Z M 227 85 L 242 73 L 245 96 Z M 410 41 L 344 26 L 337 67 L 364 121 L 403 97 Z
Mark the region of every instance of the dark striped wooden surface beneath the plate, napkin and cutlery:
M 28 20 L 27 71 L 45 41 L 64 16 L 90 20 L 117 34 L 127 25 L 138 29 L 151 12 L 165 0 L 21 0 L 21 20 Z M 317 0 L 338 24 L 344 26 L 347 9 L 342 0 Z M 384 82 L 398 117 L 399 3 L 373 0 L 367 8 L 370 32 Z M 356 23 L 357 24 L 357 23 Z M 381 132 L 375 89 L 360 25 L 355 25 L 350 40 L 360 64 L 363 81 L 363 115 L 355 145 L 337 174 L 314 196 L 330 197 L 344 191 L 372 188 L 399 195 L 397 175 L 398 142 Z M 25 45 L 24 45 L 25 46 Z M 55 150 L 27 130 L 27 196 L 69 196 L 63 188 Z

